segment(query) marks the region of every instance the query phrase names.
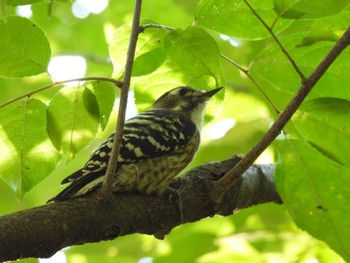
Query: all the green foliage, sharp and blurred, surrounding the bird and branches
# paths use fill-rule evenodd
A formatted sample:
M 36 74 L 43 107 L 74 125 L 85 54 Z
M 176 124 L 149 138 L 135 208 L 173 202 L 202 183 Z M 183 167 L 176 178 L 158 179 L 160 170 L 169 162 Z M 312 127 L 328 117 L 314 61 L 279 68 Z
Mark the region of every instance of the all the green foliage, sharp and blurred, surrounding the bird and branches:
M 57 80 L 48 70 L 57 56 L 84 59 L 86 76 L 122 76 L 133 1 L 107 1 L 100 12 L 94 7 L 78 18 L 72 10 L 82 2 L 3 2 L 0 103 L 51 83 L 50 77 Z M 306 76 L 350 24 L 347 0 L 249 3 Z M 29 19 L 18 16 L 23 4 L 32 4 Z M 84 13 L 82 7 L 78 11 Z M 295 69 L 244 1 L 148 0 L 142 17 L 143 24 L 153 26 L 140 35 L 136 51 L 132 85 L 138 110 L 173 86 L 225 86 L 225 99 L 221 93 L 210 104 L 206 120 L 216 117 L 204 127 L 191 167 L 247 152 L 277 115 L 259 89 L 282 111 L 300 85 Z M 285 205 L 265 204 L 186 224 L 163 241 L 132 235 L 72 247 L 53 262 L 341 261 L 329 247 L 350 260 L 350 228 L 344 220 L 350 215 L 349 52 L 323 76 L 286 136 L 259 159 L 278 161 L 276 181 Z M 239 70 L 220 54 L 249 70 Z M 69 73 L 69 66 L 66 62 L 60 71 Z M 1 214 L 45 203 L 113 130 L 111 110 L 119 91 L 101 81 L 70 84 L 0 108 Z

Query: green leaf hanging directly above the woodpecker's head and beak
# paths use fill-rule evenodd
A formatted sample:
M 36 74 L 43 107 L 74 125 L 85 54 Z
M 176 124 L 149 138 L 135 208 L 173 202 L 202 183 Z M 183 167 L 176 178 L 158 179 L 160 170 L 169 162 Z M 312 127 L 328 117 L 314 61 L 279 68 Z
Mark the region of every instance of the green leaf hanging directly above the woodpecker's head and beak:
M 216 85 L 223 84 L 220 50 L 215 40 L 203 29 L 176 29 L 165 39 L 167 53 L 173 63 L 194 78 L 213 77 Z

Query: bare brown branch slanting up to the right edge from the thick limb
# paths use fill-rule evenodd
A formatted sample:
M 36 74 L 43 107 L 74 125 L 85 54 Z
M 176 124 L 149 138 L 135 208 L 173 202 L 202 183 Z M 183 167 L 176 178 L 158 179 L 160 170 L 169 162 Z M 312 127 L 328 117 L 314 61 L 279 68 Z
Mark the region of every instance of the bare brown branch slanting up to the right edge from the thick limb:
M 297 94 L 292 98 L 285 110 L 281 113 L 266 134 L 260 139 L 260 141 L 247 153 L 243 159 L 238 162 L 238 164 L 236 164 L 223 178 L 217 182 L 218 191 L 224 191 L 227 186 L 234 184 L 235 180 L 237 180 L 239 176 L 253 164 L 256 158 L 258 158 L 259 155 L 273 142 L 318 80 L 348 45 L 350 45 L 350 27 L 344 32 L 341 38 L 336 42 L 333 48 L 319 63 L 311 75 L 303 81 Z

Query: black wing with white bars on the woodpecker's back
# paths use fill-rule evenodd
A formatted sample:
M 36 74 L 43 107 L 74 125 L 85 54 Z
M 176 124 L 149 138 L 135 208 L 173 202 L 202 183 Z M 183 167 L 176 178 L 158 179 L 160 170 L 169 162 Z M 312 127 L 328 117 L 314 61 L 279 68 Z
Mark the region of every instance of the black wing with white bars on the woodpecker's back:
M 117 169 L 123 164 L 159 157 L 186 146 L 198 130 L 185 116 L 164 110 L 149 110 L 124 124 Z M 109 136 L 91 155 L 84 167 L 71 174 L 62 184 L 72 184 L 53 200 L 66 199 L 86 184 L 105 175 L 114 134 Z

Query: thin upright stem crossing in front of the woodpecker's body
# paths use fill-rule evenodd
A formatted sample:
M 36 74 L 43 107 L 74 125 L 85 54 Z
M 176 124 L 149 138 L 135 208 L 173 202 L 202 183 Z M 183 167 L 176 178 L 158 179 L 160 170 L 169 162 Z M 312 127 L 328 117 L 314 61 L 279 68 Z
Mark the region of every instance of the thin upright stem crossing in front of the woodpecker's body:
M 142 0 L 136 0 L 135 7 L 134 7 L 134 16 L 133 16 L 132 26 L 131 26 L 128 53 L 127 53 L 126 63 L 125 63 L 123 87 L 120 93 L 118 120 L 117 120 L 115 133 L 113 137 L 114 143 L 112 146 L 111 156 L 109 158 L 106 175 L 101 187 L 102 195 L 105 195 L 110 192 L 110 187 L 113 181 L 115 170 L 117 168 L 118 156 L 119 156 L 121 141 L 123 137 L 123 126 L 125 122 L 125 113 L 126 113 L 126 106 L 128 101 L 128 92 L 129 92 L 129 86 L 130 86 L 132 66 L 134 63 L 137 38 L 140 33 L 141 6 L 142 6 Z

